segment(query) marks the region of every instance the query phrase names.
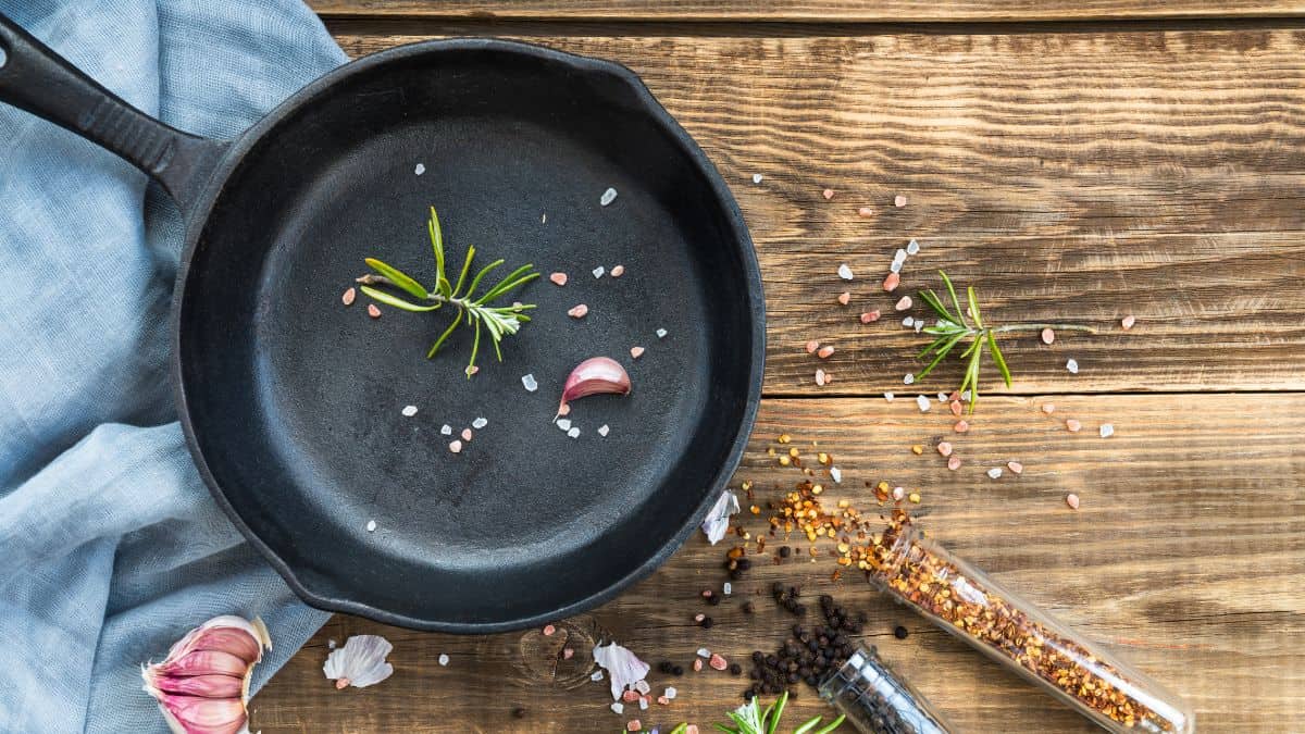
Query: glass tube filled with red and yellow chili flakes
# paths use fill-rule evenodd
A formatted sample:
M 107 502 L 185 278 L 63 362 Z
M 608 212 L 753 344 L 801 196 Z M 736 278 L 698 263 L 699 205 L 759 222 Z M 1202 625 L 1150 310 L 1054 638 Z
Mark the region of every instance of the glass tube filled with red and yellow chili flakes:
M 872 549 L 869 579 L 897 601 L 1109 731 L 1190 734 L 1195 716 L 1159 683 L 1010 593 L 908 522 Z

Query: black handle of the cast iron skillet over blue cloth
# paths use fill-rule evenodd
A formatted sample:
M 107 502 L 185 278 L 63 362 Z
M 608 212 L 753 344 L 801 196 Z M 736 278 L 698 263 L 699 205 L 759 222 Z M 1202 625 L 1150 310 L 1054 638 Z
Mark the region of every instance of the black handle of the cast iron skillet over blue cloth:
M 227 144 L 132 107 L 0 13 L 0 102 L 95 142 L 159 182 L 191 217 Z

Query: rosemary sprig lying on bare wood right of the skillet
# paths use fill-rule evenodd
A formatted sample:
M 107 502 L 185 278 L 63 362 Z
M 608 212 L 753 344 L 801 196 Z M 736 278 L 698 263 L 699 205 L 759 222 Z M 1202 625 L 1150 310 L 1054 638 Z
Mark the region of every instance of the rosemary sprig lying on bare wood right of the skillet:
M 942 270 L 938 270 L 942 276 L 942 282 L 947 286 L 947 294 L 951 296 L 951 303 L 955 306 L 957 312 L 953 315 L 947 310 L 942 299 L 938 298 L 932 290 L 925 290 L 920 293 L 920 299 L 924 300 L 929 308 L 932 308 L 938 316 L 938 321 L 932 327 L 925 327 L 924 333 L 937 337 L 933 343 L 924 347 L 917 355 L 917 359 L 924 359 L 930 353 L 934 355 L 929 366 L 924 368 L 919 375 L 915 376 L 916 380 L 923 380 L 938 366 L 940 362 L 963 341 L 970 342 L 970 346 L 960 353 L 960 359 L 966 362 L 966 374 L 960 379 L 960 388 L 957 389 L 958 393 L 964 393 L 970 391 L 970 413 L 975 411 L 975 405 L 979 402 L 979 360 L 983 357 L 984 345 L 988 346 L 988 353 L 992 354 L 992 360 L 997 364 L 997 370 L 1001 371 L 1001 377 L 1005 380 L 1006 387 L 1010 387 L 1010 368 L 1006 366 L 1006 358 L 1001 354 L 1001 347 L 997 346 L 997 334 L 1010 333 L 1010 332 L 1040 332 L 1043 329 L 1057 329 L 1062 332 L 1087 332 L 1095 334 L 1096 329 L 1091 327 L 1081 327 L 1078 324 L 1006 324 L 1002 327 L 994 327 L 992 324 L 984 325 L 983 316 L 979 312 L 979 300 L 975 298 L 975 289 L 970 286 L 966 289 L 966 298 L 968 300 L 970 308 L 960 308 L 960 299 L 957 298 L 957 289 L 951 285 L 951 278 Z M 966 320 L 970 316 L 974 320 L 971 324 Z

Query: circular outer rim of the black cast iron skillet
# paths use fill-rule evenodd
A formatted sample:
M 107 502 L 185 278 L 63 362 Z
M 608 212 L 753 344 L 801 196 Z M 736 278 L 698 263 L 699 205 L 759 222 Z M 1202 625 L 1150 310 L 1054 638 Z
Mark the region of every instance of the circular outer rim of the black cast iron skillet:
M 612 581 L 608 581 L 600 590 L 591 593 L 579 599 L 572 601 L 570 603 L 553 610 L 548 614 L 535 614 L 530 616 L 522 616 L 515 619 L 505 619 L 496 622 L 448 622 L 431 618 L 419 618 L 406 614 L 388 611 L 385 609 L 373 606 L 368 602 L 354 601 L 350 598 L 334 597 L 326 593 L 321 593 L 309 588 L 308 584 L 301 581 L 295 572 L 295 568 L 287 563 L 281 555 L 273 550 L 262 538 L 260 538 L 240 517 L 240 513 L 235 509 L 231 502 L 227 499 L 226 494 L 218 479 L 213 475 L 207 461 L 204 457 L 204 452 L 200 448 L 198 438 L 196 435 L 194 424 L 191 415 L 191 405 L 187 393 L 187 385 L 184 384 L 184 366 L 181 364 L 181 312 L 187 308 L 185 302 L 185 286 L 191 277 L 191 265 L 200 242 L 200 236 L 204 234 L 205 227 L 211 215 L 213 208 L 217 201 L 222 197 L 226 191 L 227 180 L 231 174 L 241 165 L 245 155 L 261 141 L 270 131 L 275 129 L 287 116 L 299 111 L 300 108 L 312 103 L 313 98 L 318 94 L 328 91 L 331 86 L 346 78 L 371 71 L 375 67 L 385 65 L 392 61 L 398 61 L 402 59 L 412 59 L 423 55 L 438 55 L 449 51 L 493 51 L 502 54 L 514 54 L 521 56 L 535 57 L 539 60 L 545 60 L 555 64 L 562 64 L 572 67 L 577 72 L 586 72 L 590 74 L 603 73 L 619 78 L 628 84 L 634 91 L 638 103 L 642 106 L 643 112 L 652 120 L 652 123 L 666 132 L 675 144 L 681 149 L 681 152 L 688 157 L 689 163 L 697 170 L 697 174 L 703 178 L 707 183 L 711 193 L 715 197 L 716 205 L 722 209 L 729 229 L 733 232 L 735 246 L 739 249 L 737 255 L 743 265 L 743 276 L 745 278 L 746 296 L 748 302 L 744 304 L 746 308 L 752 324 L 752 353 L 749 354 L 749 374 L 748 374 L 748 392 L 746 404 L 744 405 L 741 419 L 737 424 L 735 435 L 731 440 L 729 452 L 724 462 L 719 466 L 711 478 L 710 486 L 703 492 L 702 500 L 699 500 L 698 507 L 690 516 L 690 521 L 680 528 L 667 542 L 658 549 L 656 552 L 646 558 L 638 567 L 630 572 L 620 576 Z M 761 404 L 761 388 L 765 375 L 765 355 L 766 355 L 766 302 L 765 293 L 762 290 L 761 279 L 761 266 L 757 261 L 756 246 L 752 242 L 752 235 L 748 231 L 748 226 L 744 222 L 743 212 L 739 209 L 739 204 L 735 201 L 728 185 L 720 176 L 715 165 L 707 158 L 706 153 L 698 146 L 698 144 L 689 136 L 689 133 L 671 116 L 669 112 L 662 106 L 660 102 L 652 95 L 643 81 L 632 69 L 620 64 L 617 61 L 611 61 L 607 59 L 595 59 L 591 56 L 582 56 L 578 54 L 570 54 L 568 51 L 559 51 L 556 48 L 548 48 L 544 46 L 538 46 L 534 43 L 523 43 L 519 40 L 505 40 L 500 38 L 453 38 L 453 39 L 435 39 L 435 40 L 422 40 L 416 43 L 408 43 L 403 46 L 395 46 L 393 48 L 386 48 L 376 54 L 371 54 L 355 61 L 346 63 L 330 72 L 326 72 L 321 77 L 313 80 L 305 85 L 299 91 L 291 94 L 281 104 L 273 108 L 261 120 L 254 123 L 249 129 L 241 133 L 235 141 L 232 141 L 227 150 L 223 153 L 222 159 L 210 175 L 210 179 L 205 187 L 202 196 L 198 197 L 194 209 L 187 215 L 187 238 L 185 248 L 181 252 L 181 257 L 177 264 L 176 282 L 172 291 L 172 308 L 170 312 L 170 332 L 171 332 L 171 347 L 172 354 L 170 357 L 170 376 L 172 383 L 174 398 L 177 407 L 177 418 L 181 423 L 183 432 L 185 434 L 185 444 L 191 451 L 191 456 L 194 460 L 196 468 L 200 471 L 200 477 L 204 479 L 204 485 L 207 487 L 209 494 L 213 496 L 214 502 L 222 508 L 231 522 L 240 530 L 249 543 L 258 550 L 260 555 L 286 580 L 286 584 L 295 592 L 295 594 L 307 602 L 308 605 L 333 613 L 346 613 L 365 616 L 376 622 L 385 624 L 394 624 L 399 627 L 407 627 L 412 630 L 436 631 L 436 632 L 453 632 L 459 635 L 483 635 L 492 632 L 508 632 L 514 630 L 523 630 L 527 627 L 538 627 L 548 622 L 556 622 L 559 619 L 565 619 L 573 616 L 594 607 L 608 602 L 616 596 L 619 596 L 625 589 L 630 588 L 639 580 L 651 575 L 656 568 L 659 568 L 671 555 L 673 555 L 689 538 L 690 534 L 702 524 L 702 519 L 706 516 L 707 511 L 719 499 L 720 492 L 727 487 L 729 478 L 733 475 L 735 470 L 739 468 L 743 460 L 743 453 L 746 449 L 748 439 L 752 434 L 752 428 L 757 421 L 757 411 Z

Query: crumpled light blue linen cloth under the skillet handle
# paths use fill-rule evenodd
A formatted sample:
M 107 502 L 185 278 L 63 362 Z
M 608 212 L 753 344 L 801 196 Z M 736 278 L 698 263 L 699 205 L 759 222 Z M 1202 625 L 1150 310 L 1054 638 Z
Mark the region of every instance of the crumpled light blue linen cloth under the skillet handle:
M 0 0 L 136 107 L 231 138 L 345 61 L 298 0 Z M 0 104 L 0 731 L 166 731 L 141 691 L 218 614 L 261 615 L 264 683 L 326 620 L 213 503 L 167 375 L 183 243 L 166 195 Z

